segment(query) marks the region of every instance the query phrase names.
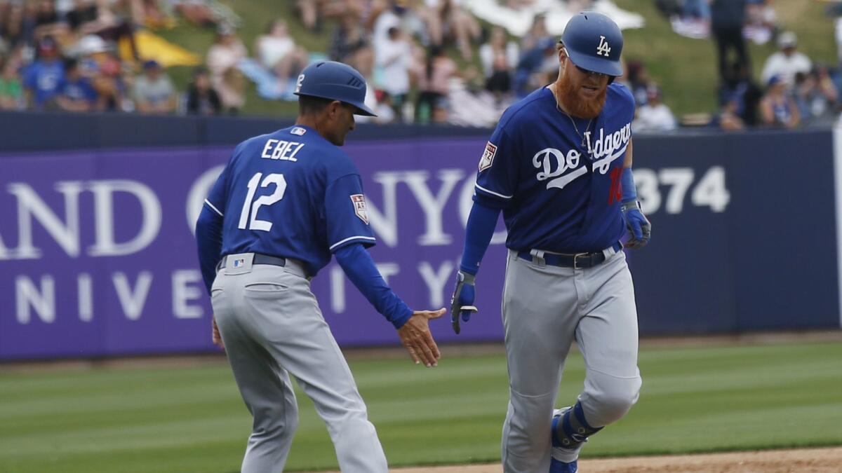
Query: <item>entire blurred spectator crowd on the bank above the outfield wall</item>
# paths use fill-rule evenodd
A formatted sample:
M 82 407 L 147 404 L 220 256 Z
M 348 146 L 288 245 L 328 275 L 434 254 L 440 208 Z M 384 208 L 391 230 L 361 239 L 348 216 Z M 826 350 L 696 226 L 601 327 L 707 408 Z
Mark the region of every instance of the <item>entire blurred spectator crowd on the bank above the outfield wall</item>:
M 558 1 L 571 12 L 594 3 Z M 519 8 L 536 0 L 500 2 Z M 711 125 L 791 128 L 839 113 L 839 72 L 799 50 L 771 0 L 653 2 L 679 34 L 712 39 L 720 109 Z M 250 56 L 236 14 L 215 0 L 0 0 L 0 109 L 235 114 L 245 104 L 248 80 L 263 98 L 295 99 L 298 72 L 327 58 L 367 78 L 366 104 L 377 123 L 493 126 L 509 104 L 554 80 L 557 37 L 547 32 L 545 15 L 537 14 L 517 38 L 499 26 L 482 27 L 463 3 L 296 0 L 283 18 L 268 19 Z M 141 57 L 136 41 L 140 29 L 177 19 L 215 32 L 186 90 L 175 87 L 161 62 Z M 288 22 L 329 38 L 327 50 L 296 44 Z M 757 79 L 747 40 L 778 49 Z M 618 81 L 637 102 L 633 129 L 677 128 L 646 66 L 633 60 L 624 66 Z

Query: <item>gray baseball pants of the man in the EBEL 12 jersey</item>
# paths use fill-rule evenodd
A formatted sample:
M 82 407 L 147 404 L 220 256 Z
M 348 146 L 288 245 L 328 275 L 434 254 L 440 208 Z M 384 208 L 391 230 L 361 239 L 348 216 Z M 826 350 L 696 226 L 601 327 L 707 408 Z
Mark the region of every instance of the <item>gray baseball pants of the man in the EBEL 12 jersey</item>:
M 386 472 L 386 456 L 354 377 L 301 267 L 247 266 L 229 263 L 211 290 L 228 361 L 254 418 L 242 472 L 284 470 L 298 423 L 290 373 L 328 425 L 339 468 Z

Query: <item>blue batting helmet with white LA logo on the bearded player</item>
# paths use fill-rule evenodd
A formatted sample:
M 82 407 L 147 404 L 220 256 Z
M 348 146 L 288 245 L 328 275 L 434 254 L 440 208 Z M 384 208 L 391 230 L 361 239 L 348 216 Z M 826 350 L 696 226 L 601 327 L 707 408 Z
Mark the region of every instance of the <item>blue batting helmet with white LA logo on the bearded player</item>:
M 604 14 L 582 12 L 573 16 L 564 27 L 562 43 L 576 66 L 612 77 L 623 75 L 623 34 Z

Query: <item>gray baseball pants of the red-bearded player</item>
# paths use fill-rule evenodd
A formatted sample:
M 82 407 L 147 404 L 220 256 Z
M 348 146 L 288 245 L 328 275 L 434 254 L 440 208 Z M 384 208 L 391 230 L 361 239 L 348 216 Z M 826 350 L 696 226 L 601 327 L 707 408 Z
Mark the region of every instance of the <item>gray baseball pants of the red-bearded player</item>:
M 588 423 L 598 428 L 615 422 L 637 401 L 637 308 L 626 254 L 573 269 L 542 266 L 509 251 L 503 323 L 509 364 L 504 471 L 544 473 L 550 467 L 553 403 L 574 337 L 585 361 L 578 400 Z

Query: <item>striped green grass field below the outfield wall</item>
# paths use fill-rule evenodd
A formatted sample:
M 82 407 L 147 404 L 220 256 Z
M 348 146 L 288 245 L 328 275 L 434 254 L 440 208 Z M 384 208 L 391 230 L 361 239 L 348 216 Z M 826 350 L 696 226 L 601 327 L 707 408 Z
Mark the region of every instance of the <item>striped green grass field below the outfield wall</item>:
M 447 350 L 445 348 L 445 355 Z M 584 456 L 842 444 L 842 344 L 642 350 L 641 400 Z M 352 361 L 392 466 L 499 459 L 502 355 Z M 581 389 L 571 356 L 561 399 Z M 299 393 L 288 470 L 336 468 Z M 224 362 L 195 367 L 0 371 L 0 472 L 237 471 L 250 417 Z

